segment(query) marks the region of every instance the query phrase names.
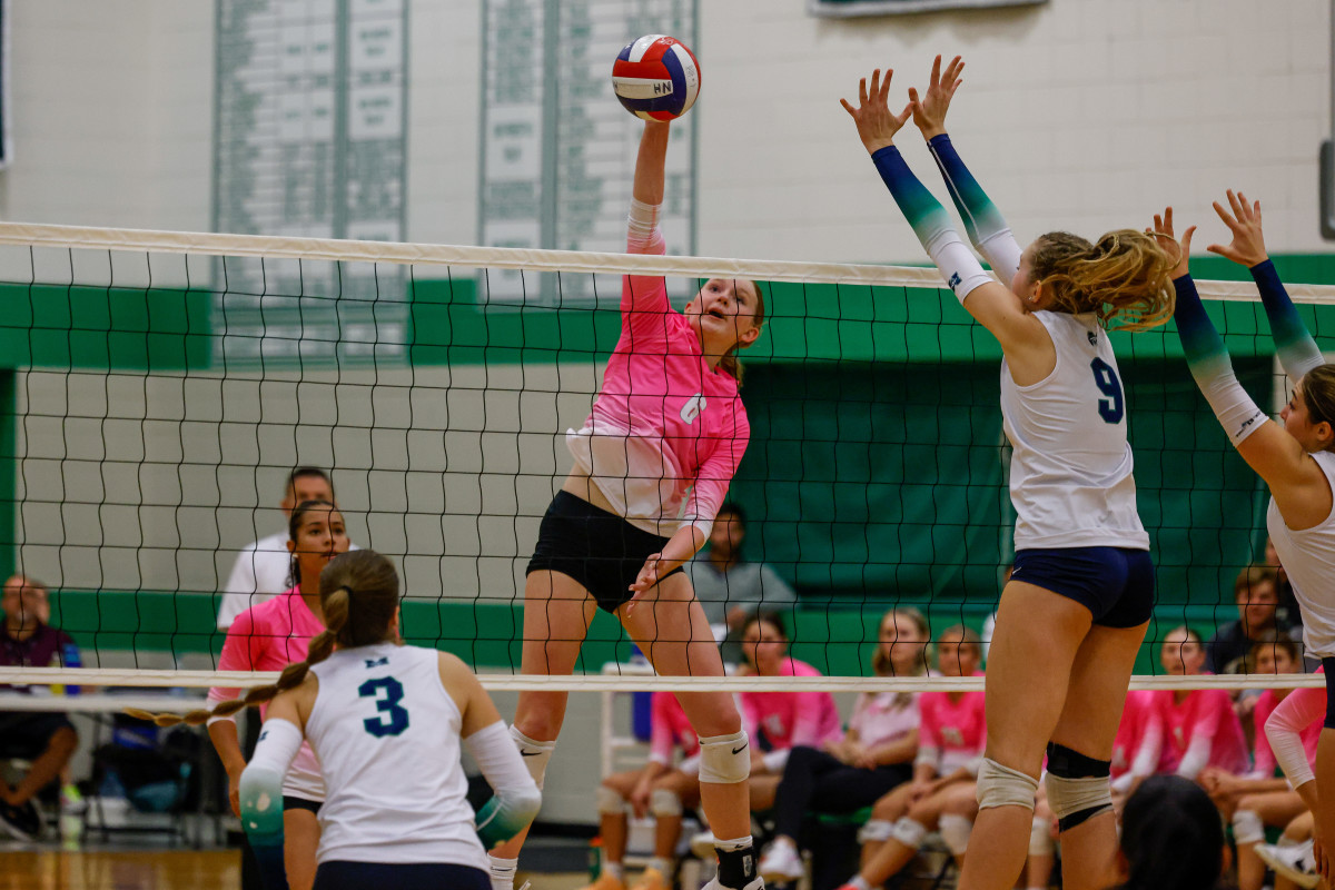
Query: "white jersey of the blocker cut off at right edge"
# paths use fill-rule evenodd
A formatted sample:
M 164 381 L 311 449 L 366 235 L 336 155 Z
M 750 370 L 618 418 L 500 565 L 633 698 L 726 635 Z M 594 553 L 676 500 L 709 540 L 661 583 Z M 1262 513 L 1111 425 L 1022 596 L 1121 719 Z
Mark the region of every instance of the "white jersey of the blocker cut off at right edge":
M 1335 454 L 1318 451 L 1312 458 L 1335 492 Z M 1335 508 L 1320 524 L 1292 531 L 1271 498 L 1266 530 L 1302 608 L 1307 654 L 1316 658 L 1335 655 Z

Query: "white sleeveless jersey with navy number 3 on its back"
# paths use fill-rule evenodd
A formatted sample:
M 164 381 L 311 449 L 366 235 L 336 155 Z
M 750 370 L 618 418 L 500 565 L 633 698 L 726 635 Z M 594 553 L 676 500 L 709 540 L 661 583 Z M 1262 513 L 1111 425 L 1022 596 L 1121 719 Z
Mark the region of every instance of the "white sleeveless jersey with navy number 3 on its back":
M 311 670 L 306 738 L 324 771 L 318 862 L 454 863 L 487 870 L 459 763 L 462 715 L 439 654 L 376 643 Z

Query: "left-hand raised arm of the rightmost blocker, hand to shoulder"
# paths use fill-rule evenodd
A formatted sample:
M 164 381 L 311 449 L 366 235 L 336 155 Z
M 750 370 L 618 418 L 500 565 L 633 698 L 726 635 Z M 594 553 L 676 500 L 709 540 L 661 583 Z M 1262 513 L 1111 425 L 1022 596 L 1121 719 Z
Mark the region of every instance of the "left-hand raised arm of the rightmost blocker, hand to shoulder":
M 1173 322 L 1177 323 L 1177 336 L 1191 376 L 1238 454 L 1266 480 L 1284 522 L 1291 528 L 1311 528 L 1330 514 L 1328 503 L 1324 507 L 1319 503 L 1314 506 L 1314 499 L 1307 496 L 1311 491 L 1328 491 L 1326 474 L 1303 451 L 1298 439 L 1256 407 L 1238 382 L 1224 340 L 1206 314 L 1196 283 L 1187 270 L 1195 227 L 1188 228 L 1177 244 L 1169 207 L 1161 216 L 1155 215 L 1153 231 L 1160 242 L 1176 244 L 1179 252 L 1177 267 L 1172 274 L 1173 288 L 1177 291 Z

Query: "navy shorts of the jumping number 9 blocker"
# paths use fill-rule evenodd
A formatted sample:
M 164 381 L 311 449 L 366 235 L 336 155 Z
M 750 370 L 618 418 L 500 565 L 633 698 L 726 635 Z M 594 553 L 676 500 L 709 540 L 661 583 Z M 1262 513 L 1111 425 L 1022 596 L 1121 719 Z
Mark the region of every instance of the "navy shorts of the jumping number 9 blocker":
M 1076 600 L 1103 627 L 1136 627 L 1155 611 L 1155 562 L 1148 550 L 1019 550 L 1011 579 Z

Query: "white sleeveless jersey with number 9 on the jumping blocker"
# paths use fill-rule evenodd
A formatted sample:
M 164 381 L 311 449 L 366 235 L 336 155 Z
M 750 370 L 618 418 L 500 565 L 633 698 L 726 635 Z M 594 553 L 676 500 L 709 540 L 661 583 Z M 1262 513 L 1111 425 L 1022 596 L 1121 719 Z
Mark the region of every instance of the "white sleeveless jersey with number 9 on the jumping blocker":
M 1015 548 L 1149 550 L 1136 512 L 1125 391 L 1108 334 L 1093 314 L 1033 315 L 1057 351 L 1052 374 L 1021 387 L 1001 362 Z

